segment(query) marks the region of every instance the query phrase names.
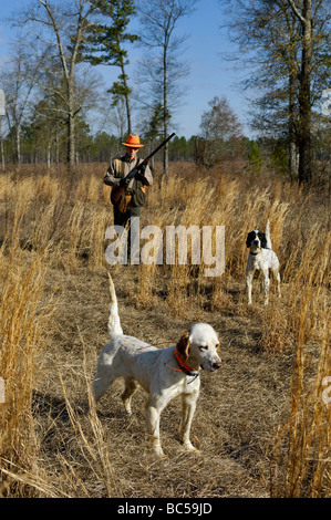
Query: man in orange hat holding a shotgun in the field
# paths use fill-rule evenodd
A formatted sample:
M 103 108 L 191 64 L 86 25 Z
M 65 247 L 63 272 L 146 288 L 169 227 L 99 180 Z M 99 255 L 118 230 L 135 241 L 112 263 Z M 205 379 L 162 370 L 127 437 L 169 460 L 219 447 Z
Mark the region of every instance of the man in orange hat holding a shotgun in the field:
M 130 256 L 131 247 L 131 217 L 139 217 L 141 208 L 145 204 L 146 187 L 153 184 L 153 176 L 148 165 L 144 165 L 141 171 L 131 179 L 128 185 L 125 183 L 127 174 L 143 159 L 138 159 L 137 153 L 144 145 L 141 144 L 138 135 L 128 134 L 125 146 L 126 154 L 112 160 L 104 184 L 112 187 L 112 202 L 114 207 L 114 226 L 128 226 L 127 253 Z M 121 191 L 121 197 L 115 201 L 116 194 Z

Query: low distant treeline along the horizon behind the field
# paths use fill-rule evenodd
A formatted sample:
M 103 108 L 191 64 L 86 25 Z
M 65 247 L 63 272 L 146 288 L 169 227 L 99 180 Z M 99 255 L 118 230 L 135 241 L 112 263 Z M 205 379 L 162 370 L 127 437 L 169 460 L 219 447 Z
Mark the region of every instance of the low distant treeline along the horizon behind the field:
M 214 104 L 213 104 L 214 102 Z M 229 110 L 225 100 L 218 98 L 210 102 L 211 110 L 204 113 L 203 119 L 210 121 L 215 118 L 215 112 L 218 113 L 219 104 L 224 103 Z M 245 170 L 250 174 L 259 174 L 263 165 L 272 168 L 273 171 L 291 178 L 288 160 L 288 144 L 286 139 L 260 137 L 249 139 L 240 132 L 240 125 L 236 116 L 231 125 L 224 125 L 225 116 L 221 116 L 223 124 L 217 126 L 213 123 L 213 135 L 204 134 L 204 123 L 199 135 L 193 135 L 189 138 L 185 136 L 175 136 L 169 142 L 168 160 L 169 162 L 190 162 L 204 167 L 213 167 L 224 162 L 240 160 L 245 163 Z M 205 128 L 206 131 L 206 128 Z M 237 134 L 236 134 L 237 131 Z M 90 127 L 82 119 L 76 125 L 76 135 L 79 136 L 75 156 L 75 166 L 82 163 L 110 163 L 116 156 L 124 154 L 122 138 L 110 135 L 106 132 L 91 134 Z M 10 134 L 2 141 L 2 171 L 6 171 L 8 164 L 14 164 L 15 150 L 14 141 Z M 145 147 L 141 156 L 148 155 L 162 142 L 162 137 L 152 138 L 151 135 L 142 135 L 142 142 Z M 58 134 L 58 139 L 50 142 L 44 139 L 44 127 L 35 124 L 23 125 L 20 139 L 21 164 L 46 164 L 49 168 L 59 168 L 65 164 L 66 138 L 65 132 Z M 325 181 L 330 174 L 331 147 L 330 135 L 325 136 L 316 133 L 313 136 L 313 158 L 316 164 L 314 181 Z M 156 155 L 156 160 L 162 162 L 162 152 Z

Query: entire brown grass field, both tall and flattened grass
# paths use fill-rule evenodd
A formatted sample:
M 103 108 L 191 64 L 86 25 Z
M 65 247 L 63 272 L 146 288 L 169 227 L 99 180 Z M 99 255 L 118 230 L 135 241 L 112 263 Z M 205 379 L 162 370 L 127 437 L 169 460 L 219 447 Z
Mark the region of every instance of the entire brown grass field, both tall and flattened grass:
M 328 191 L 242 165 L 156 173 L 142 226 L 225 226 L 225 273 L 206 278 L 189 261 L 107 266 L 104 169 L 0 176 L 0 496 L 330 497 Z M 265 308 L 257 280 L 248 306 L 246 236 L 268 218 L 282 298 L 271 281 Z M 86 413 L 107 342 L 107 270 L 125 333 L 164 345 L 197 321 L 219 333 L 223 366 L 201 373 L 192 428 L 200 455 L 178 441 L 180 402 L 163 413 L 161 460 L 145 439 L 143 391 L 133 418 L 121 382 Z

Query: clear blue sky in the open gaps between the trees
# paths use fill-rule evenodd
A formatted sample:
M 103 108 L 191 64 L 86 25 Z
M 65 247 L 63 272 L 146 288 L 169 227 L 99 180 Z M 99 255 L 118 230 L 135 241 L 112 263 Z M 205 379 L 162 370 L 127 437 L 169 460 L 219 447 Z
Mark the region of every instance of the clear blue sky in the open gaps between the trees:
M 9 52 L 9 41 L 12 29 L 4 21 L 6 17 L 18 12 L 20 8 L 33 0 L 0 0 L 0 64 Z M 34 0 L 37 1 L 37 0 Z M 183 105 L 175 114 L 177 134 L 190 137 L 199 132 L 201 115 L 209 110 L 208 102 L 215 96 L 225 96 L 232 111 L 244 125 L 246 135 L 249 135 L 244 93 L 239 90 L 242 71 L 236 71 L 234 64 L 226 60 L 229 52 L 234 52 L 226 30 L 220 30 L 223 10 L 218 0 L 199 0 L 195 12 L 182 19 L 178 33 L 188 35 L 184 44 L 183 59 L 190 64 L 190 74 L 184 80 L 186 86 Z M 130 48 L 128 48 L 130 52 Z M 131 58 L 131 54 L 128 54 Z M 132 60 L 134 66 L 134 59 Z M 110 66 L 99 67 L 105 79 L 107 87 L 116 80 L 118 70 Z M 247 73 L 247 72 L 246 72 Z

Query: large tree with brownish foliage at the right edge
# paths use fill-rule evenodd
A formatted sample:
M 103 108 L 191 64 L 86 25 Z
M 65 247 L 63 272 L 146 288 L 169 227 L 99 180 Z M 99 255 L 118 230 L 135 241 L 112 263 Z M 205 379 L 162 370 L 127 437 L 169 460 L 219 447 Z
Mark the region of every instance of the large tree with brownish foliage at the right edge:
M 246 86 L 263 93 L 261 129 L 282 133 L 292 178 L 312 177 L 312 110 L 330 80 L 330 4 L 321 0 L 220 0 L 231 37 L 251 65 Z M 328 27 L 329 24 L 329 27 Z M 269 119 L 269 127 L 268 127 Z M 297 156 L 299 157 L 299 164 Z

